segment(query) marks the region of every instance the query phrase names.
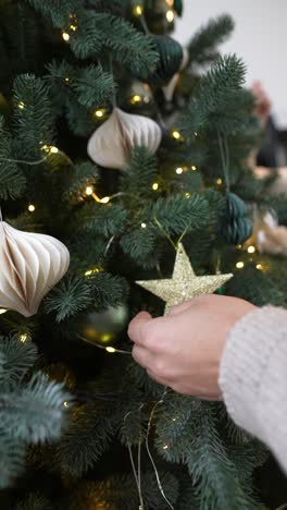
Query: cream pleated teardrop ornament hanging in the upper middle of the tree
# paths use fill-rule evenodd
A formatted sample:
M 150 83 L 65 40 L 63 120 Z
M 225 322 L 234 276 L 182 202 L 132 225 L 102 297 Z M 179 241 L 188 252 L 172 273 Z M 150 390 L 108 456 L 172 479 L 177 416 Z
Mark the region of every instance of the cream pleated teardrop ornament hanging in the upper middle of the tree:
M 89 157 L 101 167 L 123 170 L 128 153 L 145 146 L 154 154 L 162 139 L 160 126 L 153 120 L 114 108 L 112 114 L 90 137 Z

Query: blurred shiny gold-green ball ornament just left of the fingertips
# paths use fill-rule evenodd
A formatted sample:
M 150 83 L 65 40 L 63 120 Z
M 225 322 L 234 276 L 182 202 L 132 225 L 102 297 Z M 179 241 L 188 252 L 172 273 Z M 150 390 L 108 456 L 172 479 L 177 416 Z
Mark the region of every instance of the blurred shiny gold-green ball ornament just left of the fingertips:
M 108 347 L 125 329 L 128 317 L 125 304 L 110 306 L 103 312 L 90 312 L 79 319 L 78 331 L 89 343 Z

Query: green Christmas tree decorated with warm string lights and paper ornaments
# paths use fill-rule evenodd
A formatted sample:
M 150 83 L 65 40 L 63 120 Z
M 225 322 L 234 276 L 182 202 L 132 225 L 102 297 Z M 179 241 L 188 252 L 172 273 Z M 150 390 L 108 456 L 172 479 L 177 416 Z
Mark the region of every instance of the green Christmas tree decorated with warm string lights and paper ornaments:
M 126 332 L 163 314 L 148 280 L 177 288 L 180 254 L 188 289 L 286 304 L 252 236 L 254 209 L 287 207 L 250 167 L 254 100 L 217 49 L 233 21 L 183 48 L 182 0 L 0 9 L 1 508 L 265 508 L 265 448 L 222 403 L 149 379 Z

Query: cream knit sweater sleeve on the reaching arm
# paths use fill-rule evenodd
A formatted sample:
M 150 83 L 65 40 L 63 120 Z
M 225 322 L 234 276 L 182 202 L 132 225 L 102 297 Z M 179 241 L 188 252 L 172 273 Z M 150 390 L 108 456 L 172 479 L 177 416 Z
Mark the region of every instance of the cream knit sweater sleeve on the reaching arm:
M 287 311 L 257 308 L 235 325 L 220 386 L 235 423 L 265 442 L 287 472 Z

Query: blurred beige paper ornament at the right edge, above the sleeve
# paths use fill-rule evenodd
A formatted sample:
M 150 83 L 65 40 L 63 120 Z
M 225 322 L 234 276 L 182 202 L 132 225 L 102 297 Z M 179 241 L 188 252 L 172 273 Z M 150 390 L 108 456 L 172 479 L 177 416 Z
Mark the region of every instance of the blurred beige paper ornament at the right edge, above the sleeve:
M 253 235 L 259 252 L 287 257 L 287 228 L 271 211 L 257 219 Z

